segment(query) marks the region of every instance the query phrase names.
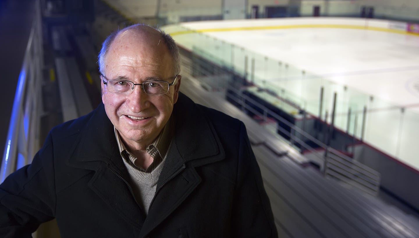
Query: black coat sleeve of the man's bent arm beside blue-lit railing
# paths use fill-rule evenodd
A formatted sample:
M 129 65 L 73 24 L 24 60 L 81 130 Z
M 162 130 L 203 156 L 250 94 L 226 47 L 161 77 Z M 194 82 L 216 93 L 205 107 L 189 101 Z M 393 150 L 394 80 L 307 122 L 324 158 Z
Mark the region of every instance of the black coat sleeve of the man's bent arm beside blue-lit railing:
M 51 136 L 32 164 L 10 174 L 0 184 L 0 237 L 31 237 L 38 226 L 54 218 L 54 165 Z

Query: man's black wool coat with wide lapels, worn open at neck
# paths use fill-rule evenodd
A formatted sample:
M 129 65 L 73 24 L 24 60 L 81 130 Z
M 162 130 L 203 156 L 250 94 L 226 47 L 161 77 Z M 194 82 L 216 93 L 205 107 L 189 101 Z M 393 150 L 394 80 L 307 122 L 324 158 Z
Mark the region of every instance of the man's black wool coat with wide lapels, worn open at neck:
M 52 129 L 32 164 L 0 185 L 0 237 L 31 237 L 53 218 L 63 238 L 277 237 L 243 123 L 183 94 L 172 116 L 175 134 L 147 216 L 101 104 Z

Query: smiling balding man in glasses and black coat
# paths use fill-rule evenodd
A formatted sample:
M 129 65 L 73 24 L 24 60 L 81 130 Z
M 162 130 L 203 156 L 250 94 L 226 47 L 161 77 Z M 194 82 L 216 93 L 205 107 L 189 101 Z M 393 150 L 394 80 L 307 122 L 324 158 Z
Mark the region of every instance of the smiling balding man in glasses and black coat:
M 65 237 L 276 237 L 240 121 L 179 92 L 178 49 L 149 26 L 99 54 L 102 102 L 54 128 L 0 186 L 0 237 L 57 218 Z

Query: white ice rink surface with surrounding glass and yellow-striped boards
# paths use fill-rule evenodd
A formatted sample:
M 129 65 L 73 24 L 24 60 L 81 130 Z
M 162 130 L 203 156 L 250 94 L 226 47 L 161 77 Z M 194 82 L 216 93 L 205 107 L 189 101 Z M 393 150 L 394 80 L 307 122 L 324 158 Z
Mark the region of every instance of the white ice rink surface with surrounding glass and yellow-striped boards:
M 391 24 L 402 25 L 359 18 L 271 18 L 181 23 L 184 28 L 167 31 L 190 50 L 212 54 L 243 73 L 253 71 L 256 85 L 285 90 L 313 115 L 319 114 L 320 87 L 325 89 L 322 118 L 326 110 L 331 114 L 336 92 L 335 124 L 347 130 L 351 107 L 349 133 L 357 137 L 367 107 L 364 141 L 417 170 L 419 35 L 390 29 Z

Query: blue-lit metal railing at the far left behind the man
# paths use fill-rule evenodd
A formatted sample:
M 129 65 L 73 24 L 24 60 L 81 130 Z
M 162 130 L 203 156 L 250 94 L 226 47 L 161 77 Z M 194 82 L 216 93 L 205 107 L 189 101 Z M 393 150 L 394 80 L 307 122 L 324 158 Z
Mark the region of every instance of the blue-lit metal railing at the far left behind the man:
M 1 161 L 0 182 L 31 162 L 39 149 L 39 116 L 42 81 L 42 39 L 39 1 L 19 74 L 12 114 Z

